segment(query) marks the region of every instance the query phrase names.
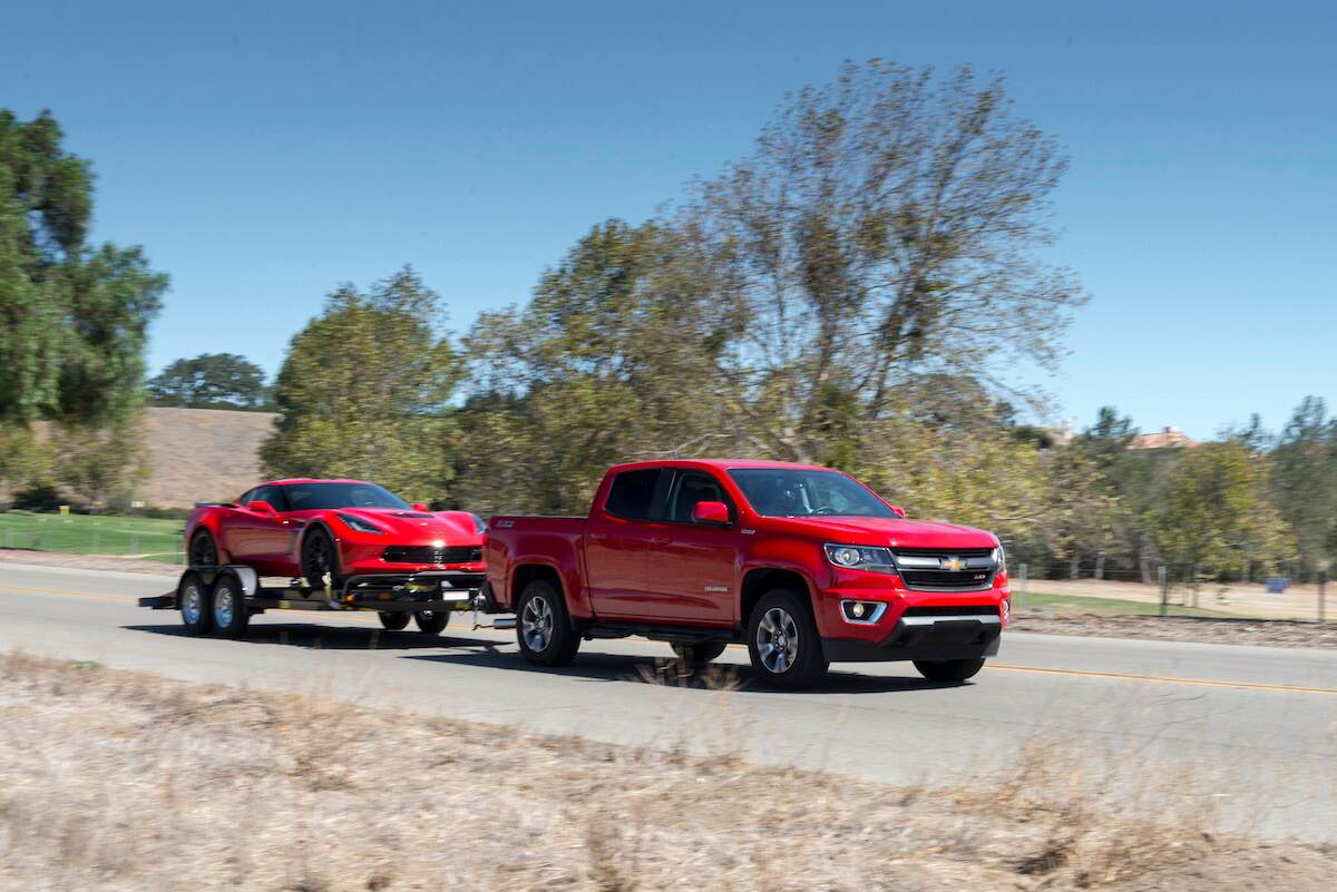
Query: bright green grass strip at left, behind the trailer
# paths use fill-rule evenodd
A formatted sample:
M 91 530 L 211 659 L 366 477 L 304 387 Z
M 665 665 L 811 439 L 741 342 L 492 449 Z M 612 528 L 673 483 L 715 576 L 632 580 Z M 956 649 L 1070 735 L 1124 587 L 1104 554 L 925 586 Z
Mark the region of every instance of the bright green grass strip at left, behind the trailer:
M 70 554 L 134 554 L 182 562 L 185 521 L 108 514 L 0 511 L 0 547 Z

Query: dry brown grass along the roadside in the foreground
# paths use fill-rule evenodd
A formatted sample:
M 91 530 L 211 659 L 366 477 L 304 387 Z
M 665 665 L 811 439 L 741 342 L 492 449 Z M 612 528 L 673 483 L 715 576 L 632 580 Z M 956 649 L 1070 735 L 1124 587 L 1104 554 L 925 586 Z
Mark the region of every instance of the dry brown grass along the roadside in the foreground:
M 1337 887 L 1332 853 L 1218 837 L 1158 797 L 1111 812 L 1059 744 L 1021 760 L 893 788 L 11 654 L 0 888 Z

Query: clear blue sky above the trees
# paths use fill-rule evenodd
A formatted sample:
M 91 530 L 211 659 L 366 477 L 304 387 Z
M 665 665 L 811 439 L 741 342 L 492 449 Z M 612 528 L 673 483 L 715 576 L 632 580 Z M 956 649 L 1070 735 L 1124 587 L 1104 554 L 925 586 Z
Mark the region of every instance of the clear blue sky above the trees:
M 1321 3 L 45 3 L 0 105 L 51 108 L 95 236 L 171 274 L 152 370 L 277 370 L 342 282 L 412 263 L 464 330 L 591 224 L 749 150 L 786 89 L 882 56 L 1007 75 L 1072 170 L 1092 294 L 1051 421 L 1211 435 L 1337 402 L 1337 12 Z

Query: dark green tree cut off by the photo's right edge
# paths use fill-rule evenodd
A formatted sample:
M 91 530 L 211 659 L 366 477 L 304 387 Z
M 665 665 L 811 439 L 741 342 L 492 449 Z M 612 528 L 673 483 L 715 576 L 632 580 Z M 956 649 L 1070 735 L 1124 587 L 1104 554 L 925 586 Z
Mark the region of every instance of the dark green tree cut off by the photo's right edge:
M 1296 531 L 1304 570 L 1337 557 L 1337 418 L 1305 397 L 1270 454 L 1273 498 Z

